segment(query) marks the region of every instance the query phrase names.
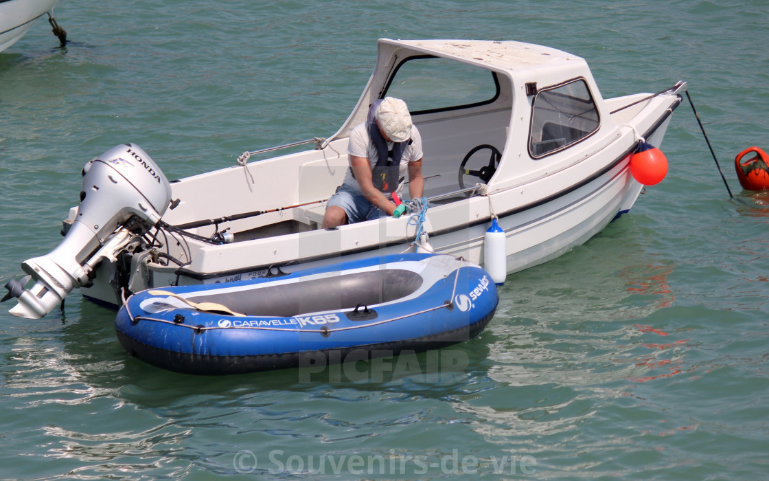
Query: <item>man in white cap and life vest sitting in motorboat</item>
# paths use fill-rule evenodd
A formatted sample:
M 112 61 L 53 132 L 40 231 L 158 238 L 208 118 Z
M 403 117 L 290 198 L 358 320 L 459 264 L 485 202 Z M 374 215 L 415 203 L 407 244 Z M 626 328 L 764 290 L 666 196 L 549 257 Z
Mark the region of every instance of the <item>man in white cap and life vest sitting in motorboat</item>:
M 411 123 L 406 102 L 393 97 L 377 100 L 368 120 L 350 132 L 350 169 L 328 199 L 323 229 L 392 215 L 408 173 L 411 199 L 422 196 L 422 138 Z

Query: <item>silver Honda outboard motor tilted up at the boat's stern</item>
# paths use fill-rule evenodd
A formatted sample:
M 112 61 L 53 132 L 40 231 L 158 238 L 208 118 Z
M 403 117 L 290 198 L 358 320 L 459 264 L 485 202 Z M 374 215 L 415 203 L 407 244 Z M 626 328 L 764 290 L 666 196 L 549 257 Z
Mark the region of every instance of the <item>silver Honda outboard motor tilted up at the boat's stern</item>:
M 132 239 L 160 221 L 171 202 L 171 185 L 138 145 L 109 149 L 88 162 L 82 174 L 80 205 L 65 239 L 45 256 L 22 262 L 35 285 L 25 289 L 28 277 L 5 286 L 2 300 L 18 299 L 9 311 L 14 316 L 40 319 L 72 289 L 89 285 L 98 264 L 115 261 Z

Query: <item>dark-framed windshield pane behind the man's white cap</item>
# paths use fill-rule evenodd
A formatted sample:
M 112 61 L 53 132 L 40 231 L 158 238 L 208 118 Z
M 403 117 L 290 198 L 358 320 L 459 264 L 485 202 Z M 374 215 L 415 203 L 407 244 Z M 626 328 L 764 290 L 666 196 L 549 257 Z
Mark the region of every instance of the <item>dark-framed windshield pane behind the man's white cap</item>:
M 494 102 L 499 82 L 484 68 L 420 55 L 406 58 L 385 86 L 384 96 L 404 99 L 412 115 L 468 109 Z

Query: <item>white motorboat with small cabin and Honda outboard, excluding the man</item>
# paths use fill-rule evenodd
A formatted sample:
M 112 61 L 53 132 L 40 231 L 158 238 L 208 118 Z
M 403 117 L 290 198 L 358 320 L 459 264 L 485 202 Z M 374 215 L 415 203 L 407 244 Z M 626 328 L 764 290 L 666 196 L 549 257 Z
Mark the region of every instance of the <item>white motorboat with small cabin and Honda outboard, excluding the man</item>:
M 660 145 L 685 82 L 603 99 L 583 58 L 521 42 L 378 42 L 375 69 L 341 129 L 315 149 L 168 183 L 138 145 L 84 169 L 65 240 L 8 283 L 15 316 L 40 317 L 66 294 L 120 305 L 131 292 L 206 284 L 422 248 L 484 264 L 484 234 L 504 230 L 494 261 L 516 272 L 560 256 L 628 212 L 642 140 Z M 348 169 L 348 135 L 371 102 L 404 99 L 424 148 L 414 212 L 321 229 Z M 421 232 L 421 233 L 420 233 Z M 487 267 L 488 269 L 488 267 Z

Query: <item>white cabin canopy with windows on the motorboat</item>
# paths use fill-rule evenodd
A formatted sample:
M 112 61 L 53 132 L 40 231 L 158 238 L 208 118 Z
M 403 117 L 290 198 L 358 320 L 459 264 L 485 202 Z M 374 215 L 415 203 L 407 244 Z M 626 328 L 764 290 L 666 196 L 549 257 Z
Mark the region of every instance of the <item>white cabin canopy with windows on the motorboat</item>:
M 558 152 L 601 137 L 599 131 L 608 142 L 617 129 L 583 58 L 524 42 L 380 39 L 374 72 L 331 139 L 347 138 L 385 96 L 404 99 L 420 129 L 425 178 L 444 177 L 428 182 L 426 195 L 451 190 L 456 177 L 448 179 L 439 165 L 451 163 L 455 172 L 453 158 L 478 145 L 493 146 L 503 160 L 529 162 L 499 162 L 494 177 L 484 179 L 509 184 L 522 172 L 541 175 L 562 157 Z

